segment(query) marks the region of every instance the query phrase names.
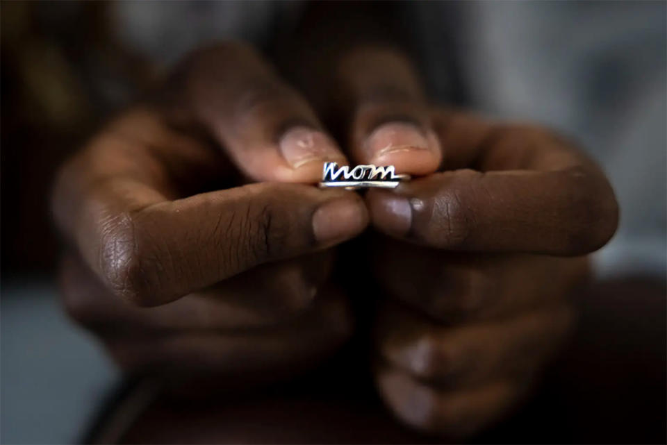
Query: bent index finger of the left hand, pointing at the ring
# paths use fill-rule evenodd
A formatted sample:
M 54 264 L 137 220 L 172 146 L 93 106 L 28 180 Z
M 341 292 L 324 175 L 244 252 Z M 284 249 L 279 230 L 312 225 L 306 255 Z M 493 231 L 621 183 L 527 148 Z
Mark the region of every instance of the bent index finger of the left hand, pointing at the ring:
M 352 192 L 258 183 L 106 221 L 115 222 L 88 252 L 89 263 L 115 294 L 151 306 L 264 262 L 343 242 L 365 228 L 368 214 Z

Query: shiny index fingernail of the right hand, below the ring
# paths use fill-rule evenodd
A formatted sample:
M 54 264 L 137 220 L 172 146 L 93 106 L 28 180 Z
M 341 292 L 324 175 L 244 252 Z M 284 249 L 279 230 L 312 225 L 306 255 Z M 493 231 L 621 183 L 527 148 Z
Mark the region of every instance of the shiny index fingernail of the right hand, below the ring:
M 408 199 L 391 192 L 368 196 L 373 226 L 389 235 L 403 236 L 412 226 L 412 206 Z

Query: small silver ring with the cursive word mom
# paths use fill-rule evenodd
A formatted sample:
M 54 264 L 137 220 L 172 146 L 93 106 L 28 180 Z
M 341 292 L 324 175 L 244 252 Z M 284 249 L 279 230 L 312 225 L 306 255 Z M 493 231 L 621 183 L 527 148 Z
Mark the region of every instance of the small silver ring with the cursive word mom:
M 400 182 L 393 165 L 377 167 L 375 165 L 349 165 L 338 167 L 336 162 L 324 162 L 322 183 L 326 187 L 384 187 L 394 188 Z

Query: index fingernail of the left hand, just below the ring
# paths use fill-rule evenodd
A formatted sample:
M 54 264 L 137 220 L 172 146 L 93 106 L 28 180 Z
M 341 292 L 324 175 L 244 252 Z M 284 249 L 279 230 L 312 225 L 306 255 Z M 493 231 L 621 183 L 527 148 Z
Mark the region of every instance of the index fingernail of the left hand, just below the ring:
M 315 210 L 313 215 L 313 232 L 322 244 L 354 237 L 367 224 L 368 214 L 361 199 L 335 199 Z

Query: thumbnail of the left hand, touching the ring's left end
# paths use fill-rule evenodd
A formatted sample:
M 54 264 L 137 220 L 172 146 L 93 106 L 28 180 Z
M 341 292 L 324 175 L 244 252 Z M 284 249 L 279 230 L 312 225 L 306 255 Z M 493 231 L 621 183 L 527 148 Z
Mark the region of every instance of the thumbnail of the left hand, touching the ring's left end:
M 308 162 L 343 158 L 343 154 L 329 136 L 304 126 L 291 128 L 281 137 L 279 146 L 283 158 L 293 169 Z

